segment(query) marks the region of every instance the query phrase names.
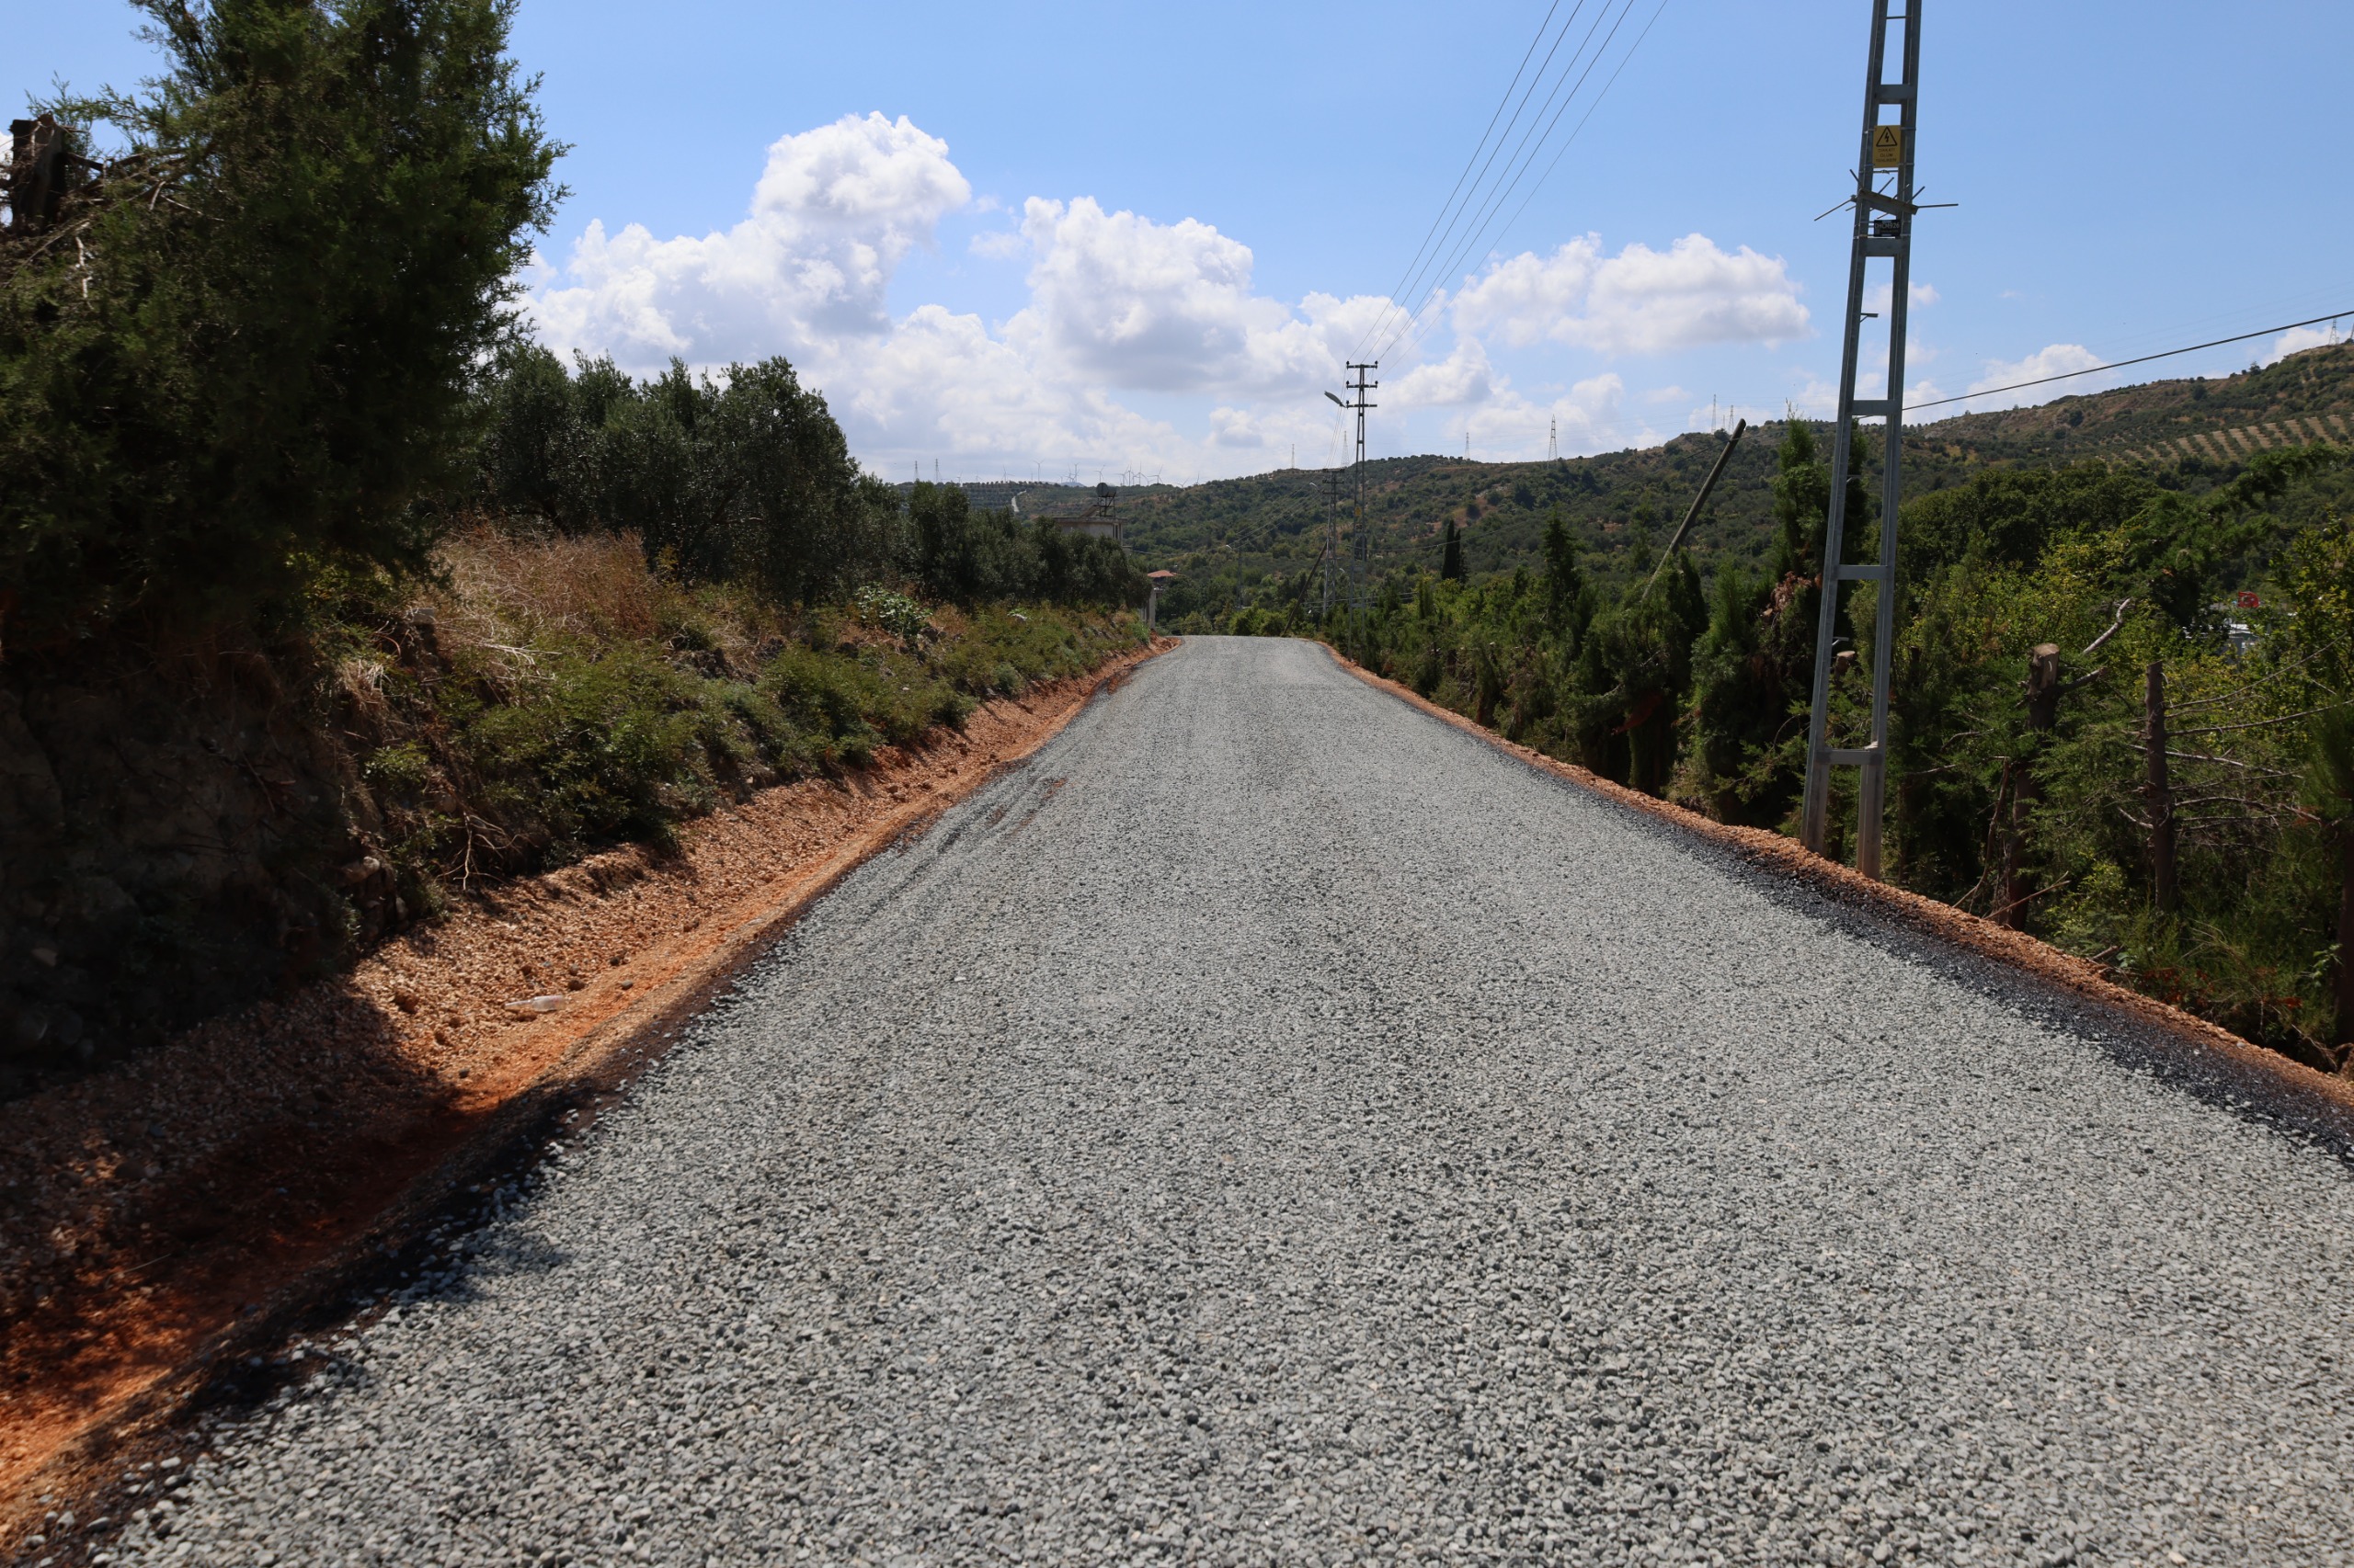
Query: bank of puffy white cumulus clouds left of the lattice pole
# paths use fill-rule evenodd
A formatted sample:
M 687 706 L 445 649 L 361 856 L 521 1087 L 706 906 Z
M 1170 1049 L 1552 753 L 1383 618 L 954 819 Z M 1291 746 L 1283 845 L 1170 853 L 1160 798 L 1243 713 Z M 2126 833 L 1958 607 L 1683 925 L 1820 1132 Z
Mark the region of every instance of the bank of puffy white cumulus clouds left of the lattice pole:
M 1022 264 L 1026 297 L 1005 320 L 897 301 L 911 252 L 939 242 L 951 214 L 1003 221 L 963 240 L 989 264 Z M 1161 221 L 1090 195 L 975 198 L 949 144 L 906 118 L 845 115 L 782 137 L 744 217 L 704 235 L 657 238 L 640 224 L 591 221 L 551 266 L 539 261 L 530 315 L 551 348 L 607 353 L 650 374 L 786 356 L 843 421 L 850 445 L 887 476 L 913 461 L 944 471 L 1163 469 L 1236 473 L 1339 461 L 1346 419 L 1318 396 L 1344 363 L 1396 323 L 1382 297 L 1259 292 L 1252 250 L 1198 219 Z M 1565 344 L 1664 353 L 1801 337 L 1808 318 L 1784 264 L 1685 235 L 1667 250 L 1596 238 L 1551 257 L 1497 261 L 1375 372 L 1375 450 L 1427 440 L 1398 424 L 1438 410 L 1481 450 L 1542 452 L 1551 424 L 1565 452 L 1622 445 L 1615 374 L 1532 400 L 1488 344 Z M 1685 393 L 1674 391 L 1671 400 Z M 1130 398 L 1153 410 L 1139 412 Z M 1396 450 L 1396 447 L 1391 447 Z

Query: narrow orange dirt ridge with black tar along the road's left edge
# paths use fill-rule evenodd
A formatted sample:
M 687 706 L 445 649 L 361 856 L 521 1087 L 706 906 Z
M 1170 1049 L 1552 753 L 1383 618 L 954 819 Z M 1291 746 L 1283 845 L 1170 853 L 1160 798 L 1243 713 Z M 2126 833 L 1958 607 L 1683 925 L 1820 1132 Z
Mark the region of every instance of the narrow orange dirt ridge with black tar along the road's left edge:
M 1078 676 L 1064 687 L 1073 692 L 1069 706 L 1017 746 L 1003 749 L 993 765 L 960 775 L 953 789 L 939 789 L 920 805 L 883 817 L 826 859 L 805 866 L 782 897 L 716 939 L 687 972 L 664 982 L 626 1015 L 584 1034 L 527 1088 L 483 1116 L 459 1147 L 412 1177 L 363 1231 L 212 1333 L 174 1373 L 104 1410 L 45 1462 L 26 1469 L 0 1500 L 0 1559 L 19 1561 L 19 1542 L 40 1528 L 47 1509 L 71 1507 L 89 1521 L 127 1514 L 134 1504 L 122 1493 L 151 1479 L 139 1474 L 141 1464 L 193 1457 L 205 1448 L 198 1417 L 250 1408 L 308 1377 L 315 1368 L 290 1358 L 290 1347 L 374 1316 L 372 1302 L 414 1274 L 443 1236 L 480 1224 L 490 1196 L 532 1175 L 558 1140 L 593 1125 L 605 1107 L 669 1052 L 685 1024 L 767 954 L 817 899 L 876 855 L 920 838 L 958 800 L 1026 765 L 1073 718 L 1118 690 L 1142 662 L 1172 647 L 1177 638 L 1163 636 Z M 115 1507 L 118 1497 L 122 1507 Z M 78 1530 L 71 1542 L 45 1544 L 42 1559 L 56 1568 L 87 1563 L 106 1549 L 111 1535 L 113 1530 Z

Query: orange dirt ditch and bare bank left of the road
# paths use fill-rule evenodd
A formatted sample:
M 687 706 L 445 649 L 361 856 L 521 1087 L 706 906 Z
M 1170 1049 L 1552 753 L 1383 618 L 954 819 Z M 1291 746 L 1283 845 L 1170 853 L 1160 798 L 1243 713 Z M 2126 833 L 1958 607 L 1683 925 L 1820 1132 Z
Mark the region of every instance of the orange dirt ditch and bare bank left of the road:
M 1168 645 L 772 789 L 676 855 L 504 885 L 351 975 L 0 1104 L 0 1547 L 38 1493 L 398 1245 L 468 1158 L 626 1078 L 836 878 Z

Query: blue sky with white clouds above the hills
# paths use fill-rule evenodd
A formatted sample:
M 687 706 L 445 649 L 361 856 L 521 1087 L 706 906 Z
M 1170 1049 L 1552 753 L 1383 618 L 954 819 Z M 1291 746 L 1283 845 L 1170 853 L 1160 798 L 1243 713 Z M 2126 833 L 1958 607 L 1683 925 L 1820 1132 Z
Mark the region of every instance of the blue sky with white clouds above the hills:
M 1570 40 L 1627 2 L 1587 0 Z M 153 68 L 127 5 L 7 12 L 19 101 Z M 887 476 L 1325 464 L 1321 391 L 1544 16 L 523 0 L 572 144 L 534 320 L 638 370 L 786 353 Z M 1580 139 L 1384 353 L 1372 452 L 1645 445 L 1711 396 L 1822 412 L 1846 226 L 1813 219 L 1848 188 L 1867 16 L 1631 0 Z M 1916 238 L 1911 400 L 2354 306 L 2349 45 L 2345 5 L 1928 0 L 1919 167 L 1961 205 Z

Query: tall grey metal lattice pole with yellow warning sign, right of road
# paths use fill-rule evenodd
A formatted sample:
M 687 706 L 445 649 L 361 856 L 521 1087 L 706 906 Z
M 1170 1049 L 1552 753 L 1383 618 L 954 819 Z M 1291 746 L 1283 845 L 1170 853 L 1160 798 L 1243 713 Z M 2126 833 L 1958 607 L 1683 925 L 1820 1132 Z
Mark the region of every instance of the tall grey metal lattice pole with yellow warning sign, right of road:
M 1890 0 L 1871 0 L 1871 64 L 1864 75 L 1864 134 L 1855 165 L 1855 247 L 1848 261 L 1848 330 L 1838 365 L 1838 428 L 1831 436 L 1831 509 L 1822 532 L 1822 617 L 1815 626 L 1815 706 L 1806 725 L 1806 848 L 1822 855 L 1829 841 L 1831 768 L 1862 768 L 1855 812 L 1855 869 L 1881 873 L 1881 805 L 1888 798 L 1888 655 L 1895 640 L 1897 610 L 1897 501 L 1902 499 L 1897 457 L 1904 447 L 1904 306 L 1911 290 L 1914 205 L 1914 120 L 1921 82 L 1921 0 L 1907 0 L 1890 14 Z M 1897 45 L 1900 80 L 1888 80 L 1888 24 L 1902 26 Z M 1883 122 L 1886 111 L 1897 111 Z M 1881 181 L 1895 177 L 1895 188 Z M 1857 398 L 1855 367 L 1862 353 L 1864 271 L 1871 261 L 1890 261 L 1888 275 L 1888 396 Z M 1881 445 L 1881 549 L 1874 565 L 1848 565 L 1848 473 L 1855 461 L 1853 431 L 1857 419 L 1886 419 Z M 1871 629 L 1871 742 L 1855 749 L 1831 746 L 1831 662 L 1838 626 L 1838 591 L 1850 582 L 1878 584 Z

